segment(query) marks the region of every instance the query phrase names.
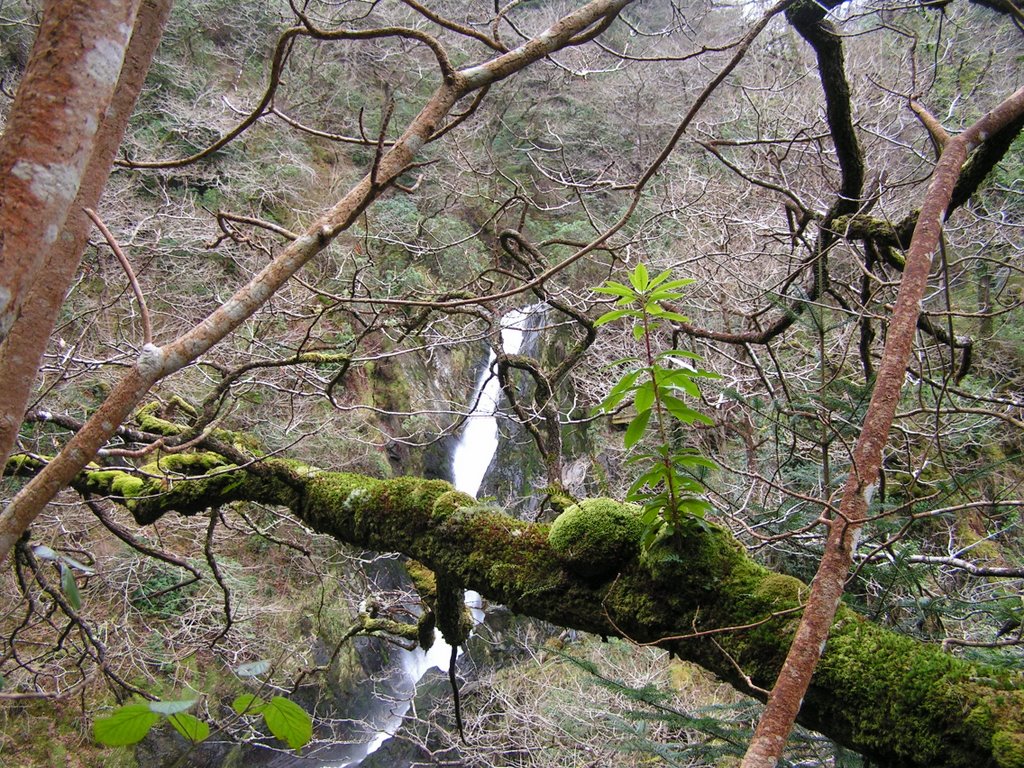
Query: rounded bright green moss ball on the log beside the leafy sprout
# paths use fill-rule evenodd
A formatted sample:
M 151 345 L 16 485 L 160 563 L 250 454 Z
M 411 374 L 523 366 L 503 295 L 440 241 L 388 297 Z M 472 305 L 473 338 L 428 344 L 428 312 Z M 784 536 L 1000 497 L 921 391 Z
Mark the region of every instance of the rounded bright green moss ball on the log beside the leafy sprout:
M 555 518 L 548 544 L 570 570 L 596 578 L 634 556 L 642 536 L 638 506 L 613 499 L 587 499 Z

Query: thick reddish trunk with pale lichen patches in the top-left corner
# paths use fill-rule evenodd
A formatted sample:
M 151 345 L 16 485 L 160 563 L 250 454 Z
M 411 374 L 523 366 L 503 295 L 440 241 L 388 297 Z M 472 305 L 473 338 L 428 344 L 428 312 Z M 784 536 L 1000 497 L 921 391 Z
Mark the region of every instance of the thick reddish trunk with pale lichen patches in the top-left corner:
M 45 6 L 0 143 L 0 341 L 63 229 L 137 9 L 138 0 Z

